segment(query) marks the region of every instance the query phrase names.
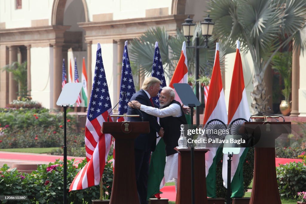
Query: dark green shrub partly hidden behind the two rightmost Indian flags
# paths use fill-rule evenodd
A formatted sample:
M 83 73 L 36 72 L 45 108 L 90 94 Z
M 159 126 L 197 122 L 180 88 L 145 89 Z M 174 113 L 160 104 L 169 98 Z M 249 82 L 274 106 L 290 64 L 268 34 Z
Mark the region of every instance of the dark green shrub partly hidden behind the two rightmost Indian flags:
M 216 170 L 216 195 L 219 198 L 226 198 L 227 189 L 223 186 L 222 179 L 222 159 L 217 164 Z M 243 178 L 244 178 L 244 193 L 248 191 L 248 186 L 251 184 L 254 175 L 254 148 L 249 148 L 248 154 L 243 163 Z

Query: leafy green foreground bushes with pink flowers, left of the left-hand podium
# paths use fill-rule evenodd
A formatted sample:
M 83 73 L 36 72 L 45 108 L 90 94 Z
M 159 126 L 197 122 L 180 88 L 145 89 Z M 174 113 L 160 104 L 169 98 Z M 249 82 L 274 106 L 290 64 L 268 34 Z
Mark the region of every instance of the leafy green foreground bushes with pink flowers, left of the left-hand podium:
M 113 172 L 111 158 L 105 165 L 103 172 L 103 195 L 111 195 Z M 67 161 L 67 199 L 68 203 L 91 203 L 92 199 L 99 199 L 99 185 L 83 190 L 70 191 L 69 187 L 82 167 L 83 160 L 76 168 L 74 159 Z M 61 203 L 63 201 L 63 162 L 57 160 L 49 165 L 39 165 L 31 174 L 19 173 L 16 169 L 8 171 L 5 164 L 0 169 L 0 189 L 2 195 L 27 195 L 27 201 L 13 201 L 8 203 Z M 107 196 L 108 195 L 108 196 Z M 6 201 L 3 201 L 4 203 Z

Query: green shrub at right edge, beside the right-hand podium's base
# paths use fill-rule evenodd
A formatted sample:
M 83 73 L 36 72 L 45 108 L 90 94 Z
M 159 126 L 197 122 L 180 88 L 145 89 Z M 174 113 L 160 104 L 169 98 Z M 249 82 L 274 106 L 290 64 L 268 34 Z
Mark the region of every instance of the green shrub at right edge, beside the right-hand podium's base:
M 281 197 L 296 199 L 297 193 L 306 189 L 305 161 L 280 165 L 276 168 L 276 173 Z

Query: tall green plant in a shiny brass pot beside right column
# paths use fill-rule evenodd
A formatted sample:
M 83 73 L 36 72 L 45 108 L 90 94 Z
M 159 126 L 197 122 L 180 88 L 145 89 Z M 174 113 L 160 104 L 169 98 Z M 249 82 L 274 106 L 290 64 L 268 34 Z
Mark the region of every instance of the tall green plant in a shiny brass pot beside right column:
M 272 64 L 272 69 L 278 72 L 284 81 L 282 95 L 285 97 L 285 100 L 282 100 L 279 109 L 284 116 L 287 116 L 291 112 L 289 97 L 291 94 L 292 52 L 275 54 L 272 58 Z

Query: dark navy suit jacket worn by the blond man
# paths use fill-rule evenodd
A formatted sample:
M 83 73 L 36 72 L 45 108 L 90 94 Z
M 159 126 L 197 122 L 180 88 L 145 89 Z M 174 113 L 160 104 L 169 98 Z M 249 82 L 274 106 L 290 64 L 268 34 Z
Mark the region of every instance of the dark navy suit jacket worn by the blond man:
M 131 98 L 131 101 L 135 100 L 140 102 L 143 105 L 151 106 L 152 103 L 150 98 L 148 98 L 146 92 L 144 90 L 137 91 Z M 155 104 L 155 108 L 159 108 L 158 105 Z M 141 111 L 141 110 L 139 110 Z M 143 111 L 141 111 L 144 121 L 149 121 L 150 124 L 150 133 L 148 134 L 140 134 L 135 139 L 135 149 L 144 150 L 144 151 L 154 151 L 156 146 L 156 133 L 159 132 L 160 126 L 157 122 L 157 117 L 149 115 Z M 130 108 L 128 106 L 128 115 L 140 115 L 136 109 Z M 140 122 L 141 117 L 129 117 L 128 121 L 131 122 Z

